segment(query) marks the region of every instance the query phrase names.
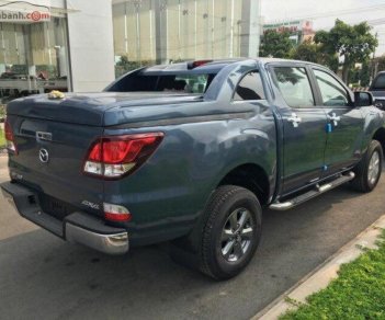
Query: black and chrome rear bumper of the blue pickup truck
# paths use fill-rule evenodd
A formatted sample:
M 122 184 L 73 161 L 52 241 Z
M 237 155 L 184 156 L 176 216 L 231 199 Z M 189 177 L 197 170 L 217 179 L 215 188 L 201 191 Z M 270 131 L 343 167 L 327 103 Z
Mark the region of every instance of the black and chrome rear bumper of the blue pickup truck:
M 19 214 L 52 233 L 107 254 L 128 252 L 128 233 L 125 229 L 106 226 L 103 220 L 76 212 L 64 220 L 44 213 L 38 205 L 37 195 L 30 188 L 5 182 L 0 184 L 3 196 Z

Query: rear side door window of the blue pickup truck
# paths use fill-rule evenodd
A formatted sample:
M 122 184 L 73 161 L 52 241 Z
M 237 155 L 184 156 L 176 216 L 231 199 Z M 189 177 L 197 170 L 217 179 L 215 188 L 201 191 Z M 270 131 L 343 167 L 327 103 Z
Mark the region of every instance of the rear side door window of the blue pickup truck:
M 291 107 L 312 107 L 315 100 L 305 68 L 275 67 L 274 81 Z

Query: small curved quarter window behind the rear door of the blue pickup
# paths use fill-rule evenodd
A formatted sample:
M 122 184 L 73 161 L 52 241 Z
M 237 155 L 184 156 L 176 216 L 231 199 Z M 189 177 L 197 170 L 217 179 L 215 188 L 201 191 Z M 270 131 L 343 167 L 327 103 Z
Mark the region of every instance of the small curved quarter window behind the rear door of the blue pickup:
M 262 79 L 258 71 L 247 73 L 240 80 L 234 93 L 235 101 L 264 100 Z

